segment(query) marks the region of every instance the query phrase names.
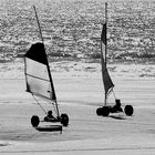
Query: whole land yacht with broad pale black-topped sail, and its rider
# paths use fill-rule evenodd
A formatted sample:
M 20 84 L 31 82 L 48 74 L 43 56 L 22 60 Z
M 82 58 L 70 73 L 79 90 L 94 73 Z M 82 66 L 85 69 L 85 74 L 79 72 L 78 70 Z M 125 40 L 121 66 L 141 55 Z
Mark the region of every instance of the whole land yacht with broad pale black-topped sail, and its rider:
M 38 105 L 42 108 L 42 111 L 48 114 L 43 120 L 40 121 L 39 116 L 33 115 L 31 117 L 31 124 L 38 131 L 45 130 L 46 126 L 39 126 L 40 122 L 59 122 L 63 126 L 69 125 L 69 116 L 66 114 L 61 114 L 59 112 L 54 84 L 52 81 L 52 75 L 50 71 L 50 65 L 48 62 L 48 55 L 44 49 L 41 27 L 39 23 L 39 18 L 37 14 L 35 7 L 33 6 L 39 32 L 41 35 L 42 42 L 38 42 L 31 45 L 28 52 L 24 54 L 24 74 L 25 74 L 25 83 L 27 83 L 27 92 L 31 93 Z M 46 112 L 43 105 L 39 102 L 38 97 L 48 101 L 51 105 L 53 105 L 55 116 L 52 116 L 52 111 Z M 62 125 L 61 131 L 62 131 Z M 54 130 L 60 130 L 60 127 L 54 127 Z M 52 130 L 52 127 L 46 127 L 46 130 Z M 53 130 L 53 131 L 54 131 Z

